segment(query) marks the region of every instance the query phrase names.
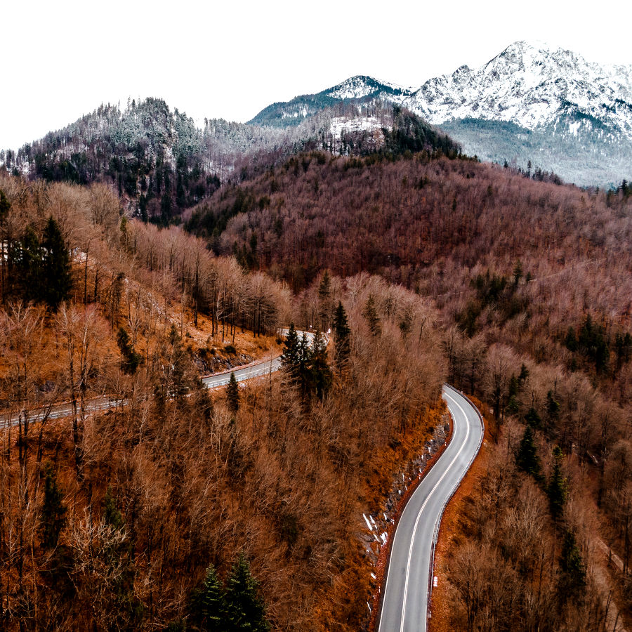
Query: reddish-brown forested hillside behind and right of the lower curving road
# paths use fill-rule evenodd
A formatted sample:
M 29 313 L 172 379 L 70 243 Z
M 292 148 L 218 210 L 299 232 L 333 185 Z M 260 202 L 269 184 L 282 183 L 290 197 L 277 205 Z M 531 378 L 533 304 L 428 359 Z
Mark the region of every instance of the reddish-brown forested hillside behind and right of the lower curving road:
M 446 629 L 597 630 L 613 607 L 629 616 L 626 576 L 603 570 L 599 548 L 627 567 L 626 183 L 599 192 L 430 152 L 312 152 L 216 193 L 187 226 L 295 291 L 324 268 L 365 270 L 439 310 L 449 382 L 489 404 L 498 444 L 447 561 L 461 606 Z M 475 579 L 498 572 L 502 593 Z

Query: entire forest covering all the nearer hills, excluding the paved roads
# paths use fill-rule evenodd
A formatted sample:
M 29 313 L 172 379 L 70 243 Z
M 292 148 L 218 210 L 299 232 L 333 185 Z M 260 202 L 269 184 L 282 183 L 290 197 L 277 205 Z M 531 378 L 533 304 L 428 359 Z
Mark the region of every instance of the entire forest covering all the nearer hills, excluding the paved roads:
M 366 629 L 362 513 L 426 452 L 445 380 L 488 430 L 447 629 L 631 616 L 631 187 L 481 164 L 405 110 L 346 127 L 345 107 L 243 161 L 213 145 L 223 123 L 199 135 L 158 100 L 5 156 L 48 169 L 0 173 L 6 626 Z M 202 387 L 274 353 L 276 376 Z M 103 395 L 126 405 L 86 414 Z M 25 414 L 64 400 L 70 421 Z

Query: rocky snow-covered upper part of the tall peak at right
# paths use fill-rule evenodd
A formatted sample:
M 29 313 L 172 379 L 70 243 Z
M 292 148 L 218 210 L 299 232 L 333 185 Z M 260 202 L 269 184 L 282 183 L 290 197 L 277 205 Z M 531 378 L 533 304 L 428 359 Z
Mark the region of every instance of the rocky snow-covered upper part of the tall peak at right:
M 475 118 L 526 129 L 576 112 L 575 132 L 593 117 L 632 139 L 632 66 L 600 66 L 572 51 L 518 41 L 476 70 L 463 65 L 426 81 L 404 105 L 433 124 Z

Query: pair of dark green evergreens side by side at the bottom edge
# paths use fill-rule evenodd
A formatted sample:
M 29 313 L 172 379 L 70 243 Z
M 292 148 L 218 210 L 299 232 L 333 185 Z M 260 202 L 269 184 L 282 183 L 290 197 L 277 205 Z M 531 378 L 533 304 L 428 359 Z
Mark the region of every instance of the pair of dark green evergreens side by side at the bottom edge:
M 240 554 L 226 585 L 213 565 L 190 600 L 190 629 L 209 632 L 268 632 L 265 604 L 258 595 L 258 581 L 252 577 L 248 560 Z M 187 626 L 188 627 L 188 626 Z

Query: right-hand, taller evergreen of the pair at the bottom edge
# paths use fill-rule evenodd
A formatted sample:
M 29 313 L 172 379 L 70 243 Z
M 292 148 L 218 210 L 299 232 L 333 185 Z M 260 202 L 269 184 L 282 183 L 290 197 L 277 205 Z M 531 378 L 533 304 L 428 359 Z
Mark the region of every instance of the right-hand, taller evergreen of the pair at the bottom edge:
M 268 632 L 265 604 L 257 594 L 258 582 L 250 572 L 243 554 L 239 555 L 228 578 L 226 591 L 226 622 L 230 632 Z

